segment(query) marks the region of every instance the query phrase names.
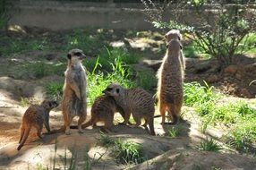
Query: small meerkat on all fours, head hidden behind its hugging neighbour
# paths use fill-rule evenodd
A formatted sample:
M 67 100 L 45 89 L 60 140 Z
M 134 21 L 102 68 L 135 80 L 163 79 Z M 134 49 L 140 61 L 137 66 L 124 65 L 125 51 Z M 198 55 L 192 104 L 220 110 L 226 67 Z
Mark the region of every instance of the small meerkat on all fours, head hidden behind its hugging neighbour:
M 106 95 L 99 96 L 95 99 L 90 112 L 90 121 L 81 125 L 83 129 L 90 125 L 96 126 L 98 122 L 104 122 L 104 130 L 107 132 L 114 125 L 115 112 L 119 112 L 124 118 L 123 108 L 116 104 L 113 97 Z

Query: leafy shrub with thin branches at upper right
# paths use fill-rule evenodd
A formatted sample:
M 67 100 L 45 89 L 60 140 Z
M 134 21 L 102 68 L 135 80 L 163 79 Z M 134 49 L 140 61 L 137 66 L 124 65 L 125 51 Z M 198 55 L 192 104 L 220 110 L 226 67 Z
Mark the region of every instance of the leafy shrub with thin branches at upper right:
M 166 12 L 164 5 L 166 4 L 158 7 L 151 1 L 149 4 L 146 3 L 147 1 L 141 1 L 145 4 L 146 12 L 150 12 L 149 9 L 154 9 L 148 13 L 148 16 L 155 27 L 160 29 L 175 28 L 191 33 L 193 43 L 205 54 L 217 58 L 218 64 L 222 68 L 234 63 L 235 53 L 243 53 L 243 50 L 248 47 L 255 48 L 255 45 L 251 46 L 247 41 L 247 36 L 255 31 L 256 25 L 255 13 L 250 7 L 250 1 L 243 5 L 217 1 L 219 6 L 214 10 L 204 6 L 206 2 L 204 0 L 180 1 L 172 4 L 174 9 L 180 10 L 172 11 L 171 14 L 175 20 L 169 22 L 163 21 L 163 13 Z M 183 20 L 184 14 L 191 14 L 190 10 L 186 10 L 187 8 L 194 10 L 193 15 L 198 19 L 196 24 Z M 216 13 L 216 11 L 218 12 Z M 242 42 L 245 46 L 241 45 Z

